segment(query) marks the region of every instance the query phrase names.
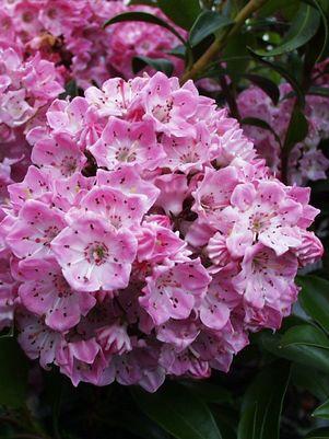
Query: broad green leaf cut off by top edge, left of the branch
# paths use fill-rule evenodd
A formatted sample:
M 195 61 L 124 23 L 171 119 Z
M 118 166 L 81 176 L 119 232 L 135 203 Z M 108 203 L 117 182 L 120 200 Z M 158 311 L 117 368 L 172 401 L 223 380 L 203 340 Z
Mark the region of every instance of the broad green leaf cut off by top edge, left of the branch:
M 157 7 L 175 24 L 190 30 L 201 12 L 199 0 L 157 0 Z

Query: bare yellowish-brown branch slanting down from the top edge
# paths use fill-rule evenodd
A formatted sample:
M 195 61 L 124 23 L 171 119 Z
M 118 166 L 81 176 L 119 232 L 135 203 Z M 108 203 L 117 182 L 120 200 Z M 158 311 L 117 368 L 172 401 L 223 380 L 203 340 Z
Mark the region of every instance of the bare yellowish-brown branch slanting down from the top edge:
M 195 79 L 199 72 L 203 71 L 225 47 L 227 39 L 235 36 L 244 25 L 245 21 L 252 15 L 254 12 L 258 11 L 267 1 L 268 0 L 250 0 L 236 15 L 234 26 L 212 43 L 208 50 L 183 74 L 180 82 L 184 84 L 186 81 Z

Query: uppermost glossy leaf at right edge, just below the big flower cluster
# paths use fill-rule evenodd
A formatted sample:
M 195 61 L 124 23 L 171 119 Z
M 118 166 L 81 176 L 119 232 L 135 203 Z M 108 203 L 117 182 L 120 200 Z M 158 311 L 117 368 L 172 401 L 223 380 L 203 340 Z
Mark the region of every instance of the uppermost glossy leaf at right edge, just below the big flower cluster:
M 329 333 L 329 281 L 317 276 L 298 277 L 303 309 Z

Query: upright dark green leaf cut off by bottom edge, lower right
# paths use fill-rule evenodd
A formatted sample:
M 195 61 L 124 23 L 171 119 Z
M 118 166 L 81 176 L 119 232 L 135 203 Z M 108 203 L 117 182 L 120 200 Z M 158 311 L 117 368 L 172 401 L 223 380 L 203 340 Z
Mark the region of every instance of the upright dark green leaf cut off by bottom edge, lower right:
M 279 439 L 289 380 L 286 362 L 272 363 L 256 377 L 244 396 L 237 439 Z

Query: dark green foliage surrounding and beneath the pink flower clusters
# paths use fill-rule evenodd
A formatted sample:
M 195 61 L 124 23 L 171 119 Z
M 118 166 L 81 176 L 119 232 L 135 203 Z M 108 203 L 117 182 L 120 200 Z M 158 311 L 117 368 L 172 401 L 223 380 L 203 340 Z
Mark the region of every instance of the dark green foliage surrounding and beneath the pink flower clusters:
M 277 100 L 278 84 L 290 82 L 297 99 L 289 135 L 282 139 L 284 154 L 306 136 L 305 95 L 329 97 L 329 89 L 310 88 L 314 65 L 329 56 L 328 0 L 130 3 L 156 3 L 189 31 L 188 41 L 175 50 L 186 60 L 184 78 L 219 82 L 221 91 L 211 94 L 235 117 L 235 97 L 250 83 Z M 157 18 L 138 13 L 122 14 L 107 25 L 126 20 L 163 25 Z M 133 60 L 136 72 L 145 65 L 168 74 L 172 70 L 163 59 Z M 79 90 L 70 83 L 67 93 L 73 96 Z M 242 123 L 275 128 L 255 119 Z M 324 141 L 321 149 L 329 158 L 328 146 Z M 56 370 L 45 372 L 27 361 L 12 334 L 2 334 L 0 438 L 329 438 L 329 181 L 316 182 L 312 189 L 312 203 L 321 209 L 315 230 L 327 250 L 322 263 L 301 273 L 299 300 L 282 328 L 254 335 L 228 374 L 214 373 L 205 382 L 169 381 L 155 394 L 117 384 L 74 389 Z

